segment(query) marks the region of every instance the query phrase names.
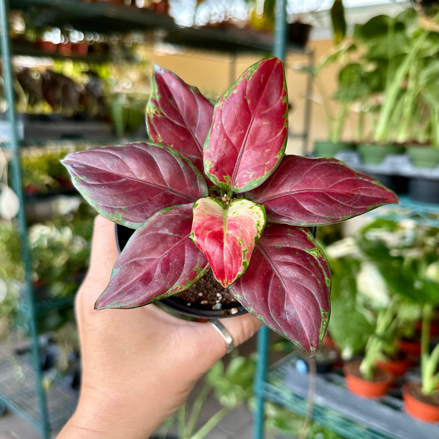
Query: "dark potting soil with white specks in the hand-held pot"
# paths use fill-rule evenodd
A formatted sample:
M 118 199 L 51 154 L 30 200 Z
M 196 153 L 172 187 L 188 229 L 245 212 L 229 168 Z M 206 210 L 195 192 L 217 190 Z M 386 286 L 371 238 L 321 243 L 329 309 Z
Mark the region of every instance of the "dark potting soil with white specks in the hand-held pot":
M 172 297 L 179 300 L 182 304 L 198 309 L 229 309 L 230 314 L 238 312 L 239 302 L 227 288 L 223 288 L 218 283 L 212 274 L 212 270 L 209 270 L 190 288 Z M 234 312 L 235 309 L 236 311 Z

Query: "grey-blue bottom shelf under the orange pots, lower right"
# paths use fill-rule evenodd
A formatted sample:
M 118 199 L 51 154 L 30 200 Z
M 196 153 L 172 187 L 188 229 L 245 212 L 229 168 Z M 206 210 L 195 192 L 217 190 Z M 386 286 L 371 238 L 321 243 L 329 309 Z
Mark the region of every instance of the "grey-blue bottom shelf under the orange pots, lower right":
M 300 416 L 308 410 L 309 374 L 296 367 L 298 355 L 293 353 L 268 370 L 263 391 L 271 399 Z M 380 399 L 364 399 L 345 386 L 340 370 L 318 374 L 314 396 L 313 419 L 349 439 L 435 438 L 439 425 L 408 416 L 399 395 Z

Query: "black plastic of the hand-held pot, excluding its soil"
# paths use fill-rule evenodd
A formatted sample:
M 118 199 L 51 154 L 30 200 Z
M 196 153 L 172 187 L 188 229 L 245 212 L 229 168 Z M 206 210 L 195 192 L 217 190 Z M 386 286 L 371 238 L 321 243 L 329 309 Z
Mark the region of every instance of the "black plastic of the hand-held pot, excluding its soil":
M 125 247 L 128 239 L 130 239 L 133 233 L 134 229 L 116 224 L 115 235 L 119 253 L 122 251 L 123 247 Z M 197 283 L 190 288 L 197 288 Z M 220 310 L 208 309 L 197 303 L 191 303 L 190 306 L 188 306 L 187 301 L 179 299 L 176 296 L 158 300 L 156 303 L 173 314 L 183 315 L 191 319 L 223 319 L 247 313 L 246 309 L 239 302 L 228 308 L 223 306 Z

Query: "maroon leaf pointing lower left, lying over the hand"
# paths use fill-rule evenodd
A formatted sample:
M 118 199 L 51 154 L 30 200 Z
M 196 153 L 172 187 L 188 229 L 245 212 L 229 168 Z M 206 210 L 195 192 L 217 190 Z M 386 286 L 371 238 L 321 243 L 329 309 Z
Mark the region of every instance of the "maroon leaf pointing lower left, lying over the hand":
M 157 212 L 127 242 L 95 308 L 135 308 L 179 293 L 209 269 L 189 238 L 192 204 Z

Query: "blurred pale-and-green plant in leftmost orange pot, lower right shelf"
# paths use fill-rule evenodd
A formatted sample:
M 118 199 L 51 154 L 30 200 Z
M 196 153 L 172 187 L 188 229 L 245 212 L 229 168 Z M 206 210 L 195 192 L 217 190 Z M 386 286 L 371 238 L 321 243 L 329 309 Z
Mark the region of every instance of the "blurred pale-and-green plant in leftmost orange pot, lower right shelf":
M 328 247 L 334 282 L 329 332 L 345 360 L 347 388 L 359 396 L 375 398 L 386 393 L 392 380 L 379 360 L 393 344 L 398 299 L 390 299 L 377 266 L 359 248 L 359 236 Z M 355 359 L 356 355 L 362 359 Z

